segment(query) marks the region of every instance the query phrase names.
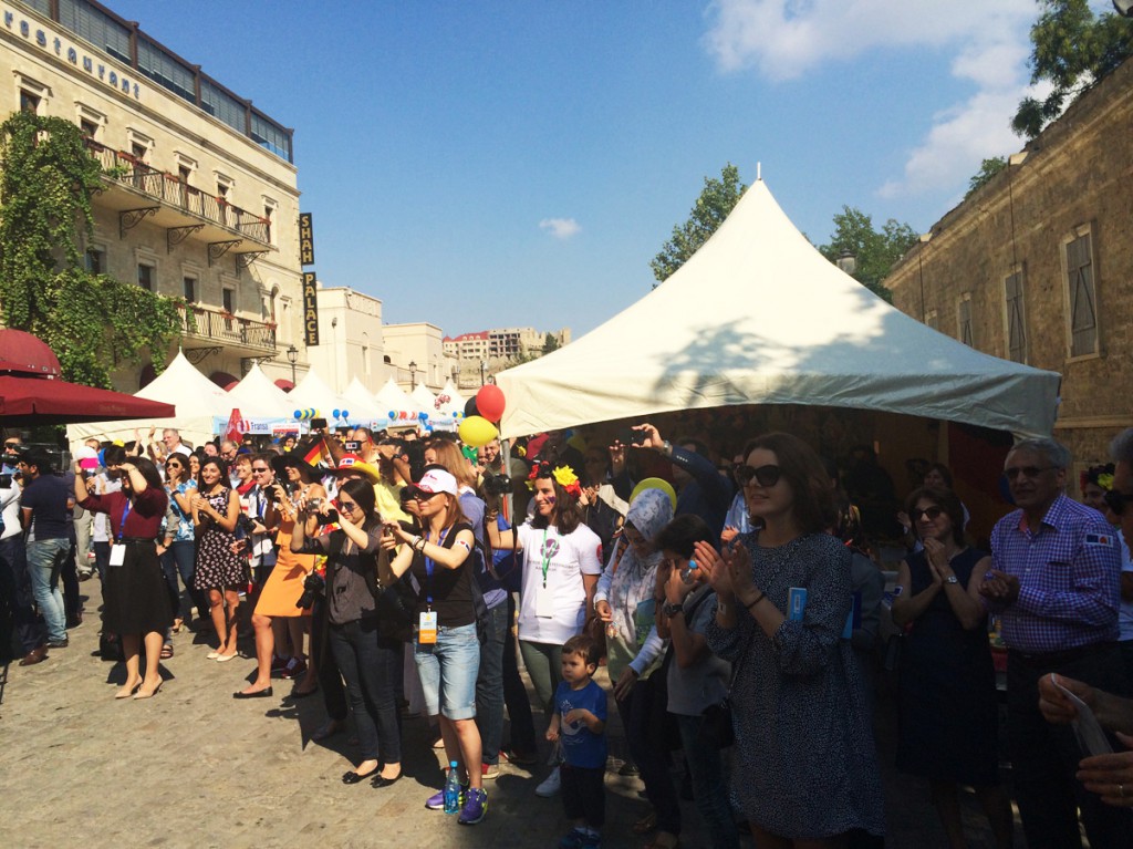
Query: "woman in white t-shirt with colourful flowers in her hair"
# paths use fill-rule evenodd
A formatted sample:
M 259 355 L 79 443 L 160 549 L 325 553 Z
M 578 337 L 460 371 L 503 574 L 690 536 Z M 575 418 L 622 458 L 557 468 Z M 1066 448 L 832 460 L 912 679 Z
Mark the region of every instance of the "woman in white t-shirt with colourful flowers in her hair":
M 602 540 L 581 521 L 578 499 L 582 490 L 570 466 L 536 464 L 528 485 L 535 493 L 535 517 L 511 530 L 500 530 L 489 521 L 487 530 L 494 549 L 523 552 L 519 652 L 539 704 L 550 715 L 562 678 L 563 643 L 582 630 L 602 575 Z M 545 795 L 557 790 L 554 783 Z

